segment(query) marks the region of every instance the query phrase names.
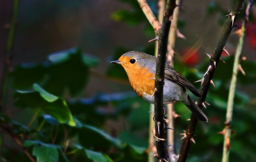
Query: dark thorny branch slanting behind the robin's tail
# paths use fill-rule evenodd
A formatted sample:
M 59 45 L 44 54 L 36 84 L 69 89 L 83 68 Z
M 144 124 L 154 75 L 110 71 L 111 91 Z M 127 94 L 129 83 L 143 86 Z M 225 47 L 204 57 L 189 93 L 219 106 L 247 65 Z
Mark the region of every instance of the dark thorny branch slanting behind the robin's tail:
M 213 78 L 215 68 L 219 62 L 221 53 L 223 51 L 223 48 L 228 40 L 228 36 L 234 27 L 234 22 L 237 17 L 237 14 L 239 13 L 239 10 L 242 5 L 242 0 L 237 0 L 233 3 L 231 12 L 226 20 L 225 25 L 221 29 L 220 38 L 216 45 L 216 48 L 214 49 L 214 52 L 211 55 L 210 62 L 208 64 L 207 69 L 210 67 L 207 74 L 204 76 L 204 82 L 201 85 L 200 93 L 202 95 L 202 98 L 197 98 L 197 103 L 200 108 L 202 108 L 202 103 L 205 102 L 206 95 L 210 86 L 210 81 Z M 233 21 L 232 21 L 233 20 Z M 186 161 L 188 151 L 191 144 L 191 139 L 194 137 L 195 129 L 197 126 L 198 120 L 196 117 L 192 114 L 190 118 L 190 122 L 188 123 L 187 131 L 186 131 L 186 138 L 182 143 L 182 147 L 180 149 L 180 156 L 178 159 L 178 162 Z

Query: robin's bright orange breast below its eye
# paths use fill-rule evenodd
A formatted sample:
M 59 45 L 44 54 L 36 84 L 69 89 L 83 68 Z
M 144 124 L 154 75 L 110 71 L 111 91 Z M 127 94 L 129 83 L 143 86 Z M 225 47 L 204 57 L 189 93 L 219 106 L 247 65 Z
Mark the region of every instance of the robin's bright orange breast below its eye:
M 139 65 L 124 67 L 134 91 L 144 98 L 144 93 L 152 95 L 155 87 L 155 74 Z

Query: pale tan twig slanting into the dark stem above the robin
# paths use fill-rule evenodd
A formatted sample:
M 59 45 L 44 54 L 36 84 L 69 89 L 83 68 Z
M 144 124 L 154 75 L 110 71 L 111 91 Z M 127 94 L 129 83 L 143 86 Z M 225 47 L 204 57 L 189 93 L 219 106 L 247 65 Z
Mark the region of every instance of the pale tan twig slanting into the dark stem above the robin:
M 145 16 L 147 17 L 148 21 L 150 22 L 154 30 L 157 32 L 161 28 L 161 24 L 157 20 L 151 8 L 148 6 L 147 1 L 146 0 L 137 0 L 137 1 L 140 4 L 141 9 L 145 14 Z

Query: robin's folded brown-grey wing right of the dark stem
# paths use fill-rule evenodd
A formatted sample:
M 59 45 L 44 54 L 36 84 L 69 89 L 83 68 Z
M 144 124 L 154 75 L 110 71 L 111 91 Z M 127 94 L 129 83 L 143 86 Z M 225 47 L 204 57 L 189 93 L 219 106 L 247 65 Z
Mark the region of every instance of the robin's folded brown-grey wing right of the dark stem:
M 188 88 L 195 96 L 202 97 L 198 90 L 169 64 L 165 64 L 165 78 Z

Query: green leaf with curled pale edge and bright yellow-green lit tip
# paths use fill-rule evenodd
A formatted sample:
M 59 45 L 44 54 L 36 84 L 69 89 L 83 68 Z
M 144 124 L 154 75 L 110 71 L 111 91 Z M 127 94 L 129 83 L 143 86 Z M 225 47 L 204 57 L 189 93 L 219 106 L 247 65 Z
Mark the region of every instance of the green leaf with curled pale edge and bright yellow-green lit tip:
M 33 88 L 34 91 L 16 91 L 14 94 L 15 105 L 22 108 L 40 108 L 59 123 L 76 125 L 65 99 L 50 94 L 38 84 L 34 84 Z

